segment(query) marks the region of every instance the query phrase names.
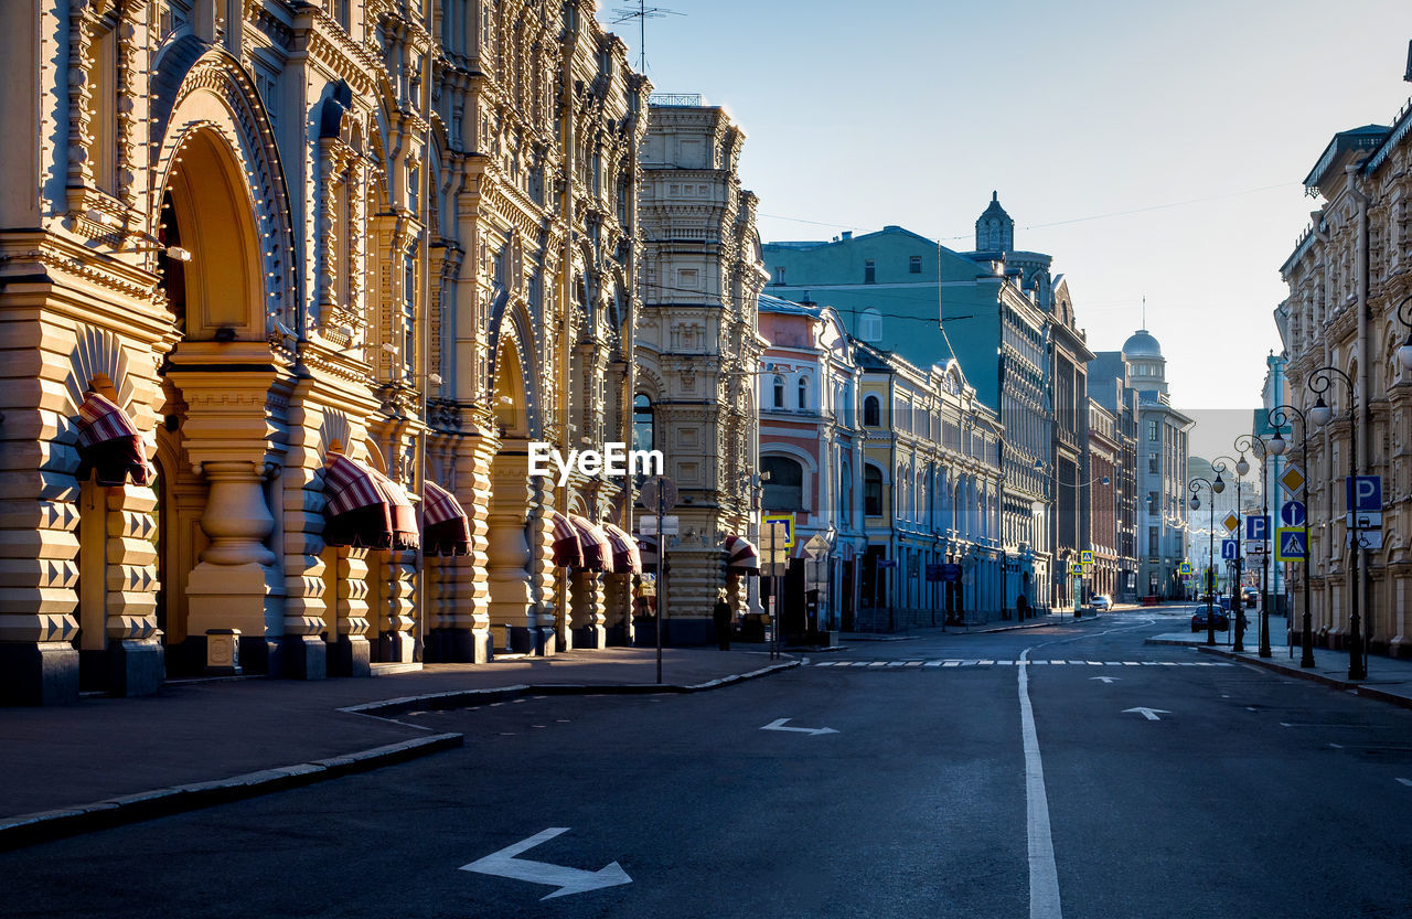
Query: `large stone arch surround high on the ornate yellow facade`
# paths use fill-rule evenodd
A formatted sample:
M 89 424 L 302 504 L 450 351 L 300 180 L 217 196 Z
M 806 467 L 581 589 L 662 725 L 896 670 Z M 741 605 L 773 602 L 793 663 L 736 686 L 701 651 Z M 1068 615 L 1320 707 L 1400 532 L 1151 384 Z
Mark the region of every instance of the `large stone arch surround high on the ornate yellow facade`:
M 201 172 L 203 179 L 192 182 L 195 200 L 216 200 L 210 198 L 215 189 L 202 186 L 217 181 L 226 185 L 222 193 L 229 196 L 229 210 L 243 224 L 251 250 L 253 264 L 243 267 L 250 315 L 237 335 L 263 339 L 277 329 L 275 320 L 295 326 L 301 292 L 289 196 L 268 114 L 240 61 L 185 35 L 161 51 L 152 89 L 150 138 L 157 165 L 147 208 L 148 233 L 161 233 L 164 196 L 181 179 L 189 152 L 198 161 L 189 171 Z M 215 172 L 206 174 L 206 165 Z M 208 224 L 219 219 L 203 217 Z

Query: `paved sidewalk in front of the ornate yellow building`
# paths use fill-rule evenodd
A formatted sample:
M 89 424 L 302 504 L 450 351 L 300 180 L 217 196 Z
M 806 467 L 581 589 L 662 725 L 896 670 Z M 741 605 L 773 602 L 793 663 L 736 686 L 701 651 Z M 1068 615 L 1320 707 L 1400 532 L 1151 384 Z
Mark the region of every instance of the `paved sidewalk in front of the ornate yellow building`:
M 143 699 L 0 709 L 0 775 L 6 776 L 0 848 L 460 745 L 460 734 L 390 720 L 409 710 L 474 704 L 486 696 L 696 692 L 798 663 L 789 655 L 771 662 L 750 651 L 665 648 L 658 687 L 654 649 L 607 648 L 428 665 L 371 679 L 169 680 Z

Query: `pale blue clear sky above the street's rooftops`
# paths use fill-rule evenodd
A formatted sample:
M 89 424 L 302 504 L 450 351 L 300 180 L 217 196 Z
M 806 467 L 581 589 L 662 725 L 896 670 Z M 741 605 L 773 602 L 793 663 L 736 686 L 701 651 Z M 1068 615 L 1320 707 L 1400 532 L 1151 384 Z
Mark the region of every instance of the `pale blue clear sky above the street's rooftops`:
M 744 127 L 764 241 L 901 224 L 969 250 L 991 191 L 1049 253 L 1093 350 L 1142 325 L 1193 455 L 1260 402 L 1279 267 L 1336 131 L 1391 124 L 1412 3 L 652 0 L 654 92 Z M 599 18 L 641 49 L 637 21 Z

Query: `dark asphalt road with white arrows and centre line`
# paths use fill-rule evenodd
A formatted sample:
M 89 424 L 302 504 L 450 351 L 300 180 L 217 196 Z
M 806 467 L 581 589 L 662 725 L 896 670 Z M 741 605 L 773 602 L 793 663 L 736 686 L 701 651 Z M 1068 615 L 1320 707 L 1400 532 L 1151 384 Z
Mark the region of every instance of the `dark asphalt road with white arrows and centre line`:
M 1412 915 L 1412 711 L 1142 644 L 1183 625 L 857 642 L 692 696 L 404 716 L 466 747 L 3 854 L 0 913 Z M 541 899 L 613 863 L 631 882 Z

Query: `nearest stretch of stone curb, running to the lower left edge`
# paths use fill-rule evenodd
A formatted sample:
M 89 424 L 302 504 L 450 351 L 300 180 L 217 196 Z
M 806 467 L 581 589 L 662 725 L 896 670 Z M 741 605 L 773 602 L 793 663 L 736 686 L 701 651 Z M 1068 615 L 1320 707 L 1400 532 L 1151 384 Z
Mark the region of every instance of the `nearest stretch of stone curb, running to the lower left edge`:
M 172 785 L 150 792 L 109 798 L 92 805 L 7 817 L 0 820 L 0 851 L 367 772 L 442 750 L 455 750 L 462 745 L 462 740 L 460 734 L 432 734 L 328 759 L 297 762 L 212 782 Z

